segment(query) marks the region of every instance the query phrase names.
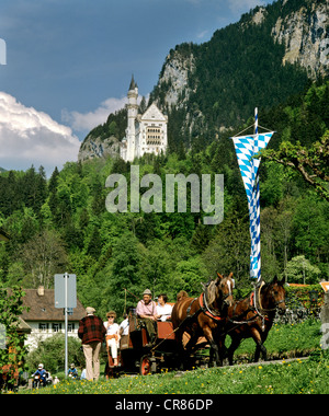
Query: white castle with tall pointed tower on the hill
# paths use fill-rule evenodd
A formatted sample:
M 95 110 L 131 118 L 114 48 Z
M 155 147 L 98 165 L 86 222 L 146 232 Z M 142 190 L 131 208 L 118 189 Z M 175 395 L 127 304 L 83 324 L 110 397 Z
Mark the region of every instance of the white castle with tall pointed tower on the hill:
M 145 153 L 164 153 L 168 146 L 168 116 L 152 103 L 144 114 L 138 114 L 138 86 L 132 77 L 128 91 L 126 137 L 122 140 L 120 155 L 126 162 L 133 162 Z

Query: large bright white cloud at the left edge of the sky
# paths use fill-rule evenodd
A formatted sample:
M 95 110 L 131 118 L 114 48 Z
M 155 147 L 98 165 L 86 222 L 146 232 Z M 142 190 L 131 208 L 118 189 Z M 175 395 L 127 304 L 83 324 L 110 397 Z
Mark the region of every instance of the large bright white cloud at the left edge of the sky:
M 48 114 L 26 107 L 0 92 L 0 166 L 26 170 L 43 165 L 50 174 L 55 166 L 76 161 L 80 148 L 72 130 Z

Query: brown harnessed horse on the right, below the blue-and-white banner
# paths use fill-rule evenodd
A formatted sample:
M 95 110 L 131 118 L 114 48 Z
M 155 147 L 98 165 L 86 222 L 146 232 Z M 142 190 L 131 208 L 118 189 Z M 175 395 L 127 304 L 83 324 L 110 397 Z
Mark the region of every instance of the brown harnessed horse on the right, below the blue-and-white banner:
M 246 299 L 235 302 L 229 309 L 224 330 L 231 337 L 231 344 L 227 350 L 229 365 L 232 365 L 235 350 L 242 338 L 252 338 L 256 342 L 254 362 L 259 360 L 260 353 L 266 359 L 264 342 L 273 325 L 276 311 L 285 313 L 285 279 L 277 281 L 275 277 L 270 284 L 264 284 Z M 222 346 L 225 345 L 223 339 Z

